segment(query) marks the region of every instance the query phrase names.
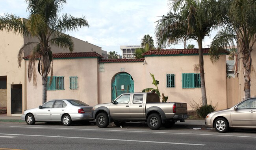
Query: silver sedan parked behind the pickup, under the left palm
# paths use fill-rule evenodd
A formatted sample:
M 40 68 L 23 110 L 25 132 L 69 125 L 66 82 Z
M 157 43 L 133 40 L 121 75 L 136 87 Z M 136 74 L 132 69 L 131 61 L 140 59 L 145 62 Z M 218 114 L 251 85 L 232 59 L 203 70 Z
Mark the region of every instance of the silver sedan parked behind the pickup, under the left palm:
M 72 121 L 93 120 L 91 112 L 93 106 L 89 106 L 82 101 L 74 99 L 55 99 L 46 102 L 38 108 L 26 110 L 21 119 L 28 125 L 41 122 L 62 122 L 64 126 L 69 126 Z

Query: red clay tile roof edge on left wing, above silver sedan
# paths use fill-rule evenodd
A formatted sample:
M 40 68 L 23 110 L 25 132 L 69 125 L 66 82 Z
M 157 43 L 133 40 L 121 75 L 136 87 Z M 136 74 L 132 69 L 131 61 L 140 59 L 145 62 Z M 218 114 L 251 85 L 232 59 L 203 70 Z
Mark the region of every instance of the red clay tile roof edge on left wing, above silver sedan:
M 29 59 L 30 56 L 26 56 L 23 59 Z M 80 53 L 53 53 L 53 59 L 71 59 L 71 58 L 85 58 L 85 57 L 99 57 L 104 58 L 100 54 L 93 52 L 80 52 Z

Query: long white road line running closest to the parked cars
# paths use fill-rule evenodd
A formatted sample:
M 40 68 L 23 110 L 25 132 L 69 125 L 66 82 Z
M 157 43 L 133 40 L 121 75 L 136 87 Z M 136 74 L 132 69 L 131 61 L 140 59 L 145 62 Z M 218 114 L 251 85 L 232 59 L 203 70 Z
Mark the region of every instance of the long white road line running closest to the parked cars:
M 206 135 L 206 136 L 224 136 L 224 137 L 249 137 L 256 136 L 239 136 L 239 135 L 218 135 L 218 134 L 188 134 L 176 132 L 150 132 L 150 131 L 130 131 L 130 130 L 104 130 L 104 129 L 79 129 L 79 128 L 48 128 L 48 127 L 26 127 L 26 126 L 10 126 L 12 128 L 42 128 L 42 129 L 61 129 L 61 130 L 89 130 L 89 131 L 115 131 L 115 132 L 137 132 L 137 133 L 158 133 L 158 134 L 185 134 L 185 135 Z

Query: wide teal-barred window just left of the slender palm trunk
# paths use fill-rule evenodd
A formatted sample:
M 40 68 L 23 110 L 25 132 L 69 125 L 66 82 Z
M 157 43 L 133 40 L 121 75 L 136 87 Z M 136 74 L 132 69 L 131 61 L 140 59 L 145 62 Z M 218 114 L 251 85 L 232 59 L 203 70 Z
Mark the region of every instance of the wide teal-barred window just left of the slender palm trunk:
M 182 88 L 201 88 L 200 73 L 182 73 Z

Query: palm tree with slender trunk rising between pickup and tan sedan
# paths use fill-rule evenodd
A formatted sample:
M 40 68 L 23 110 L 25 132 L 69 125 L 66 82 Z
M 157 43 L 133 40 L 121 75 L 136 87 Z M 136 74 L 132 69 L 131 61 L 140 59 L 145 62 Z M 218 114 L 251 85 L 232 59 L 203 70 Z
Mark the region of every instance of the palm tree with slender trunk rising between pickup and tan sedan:
M 169 5 L 174 13 L 170 11 L 167 16 L 162 16 L 162 19 L 157 21 L 155 33 L 158 47 L 177 44 L 184 39 L 197 41 L 202 104 L 207 105 L 202 40 L 210 36 L 211 31 L 217 27 L 218 2 L 216 0 L 170 0 Z

